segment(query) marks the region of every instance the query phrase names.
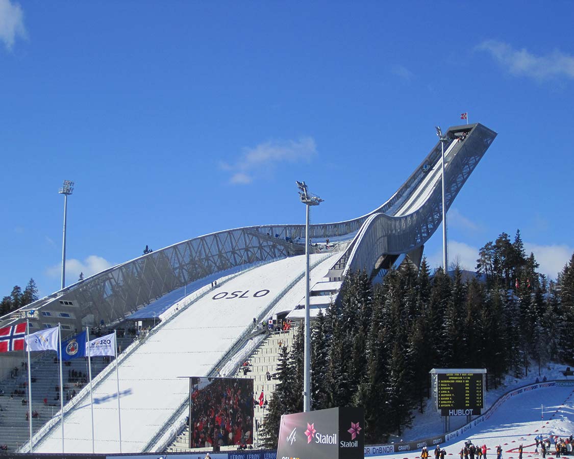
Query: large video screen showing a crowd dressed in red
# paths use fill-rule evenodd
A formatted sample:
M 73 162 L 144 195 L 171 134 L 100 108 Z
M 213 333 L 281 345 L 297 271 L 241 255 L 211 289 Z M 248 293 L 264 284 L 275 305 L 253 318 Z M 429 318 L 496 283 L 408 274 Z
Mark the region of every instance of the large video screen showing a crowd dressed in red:
M 253 379 L 190 378 L 189 447 L 253 444 Z

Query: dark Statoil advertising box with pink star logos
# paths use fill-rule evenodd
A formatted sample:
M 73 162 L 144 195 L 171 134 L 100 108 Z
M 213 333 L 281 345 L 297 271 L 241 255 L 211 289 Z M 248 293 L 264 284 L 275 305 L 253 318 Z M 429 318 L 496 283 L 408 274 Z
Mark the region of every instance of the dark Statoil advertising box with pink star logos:
M 283 415 L 277 459 L 363 459 L 363 428 L 362 408 Z

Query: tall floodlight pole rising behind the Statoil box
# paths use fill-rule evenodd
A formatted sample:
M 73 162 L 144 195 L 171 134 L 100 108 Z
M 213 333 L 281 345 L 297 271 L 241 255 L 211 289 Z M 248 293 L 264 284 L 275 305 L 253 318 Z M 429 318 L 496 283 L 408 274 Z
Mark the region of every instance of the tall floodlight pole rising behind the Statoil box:
M 303 411 L 311 411 L 311 313 L 309 312 L 309 208 L 323 200 L 309 193 L 305 182 L 295 182 L 305 204 L 305 362 L 303 372 Z

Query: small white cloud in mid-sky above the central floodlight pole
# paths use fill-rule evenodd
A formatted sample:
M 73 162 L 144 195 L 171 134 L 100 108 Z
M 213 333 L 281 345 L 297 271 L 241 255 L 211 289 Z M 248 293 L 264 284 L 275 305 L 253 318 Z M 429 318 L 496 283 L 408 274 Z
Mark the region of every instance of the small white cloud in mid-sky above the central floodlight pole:
M 317 149 L 312 137 L 302 137 L 297 141 L 268 141 L 253 148 L 244 148 L 235 162 L 220 162 L 219 168 L 232 173 L 229 180 L 231 184 L 246 185 L 281 163 L 309 162 L 316 155 Z

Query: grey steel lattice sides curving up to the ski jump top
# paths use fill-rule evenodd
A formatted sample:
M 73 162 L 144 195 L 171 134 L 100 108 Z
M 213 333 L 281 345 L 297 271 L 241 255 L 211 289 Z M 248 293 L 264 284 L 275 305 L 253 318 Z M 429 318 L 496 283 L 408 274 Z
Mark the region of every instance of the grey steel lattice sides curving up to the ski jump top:
M 479 123 L 447 131 L 451 138 L 460 133 L 466 138 L 453 147 L 445 168 L 447 209 L 497 135 Z M 394 215 L 424 177 L 425 165 L 436 164 L 440 158 L 440 142 L 437 142 L 397 192 L 375 211 L 352 220 L 311 225 L 313 239 L 345 236 L 352 239 L 329 271 L 330 277 L 344 277 L 354 269 L 375 272 L 387 256 L 422 253 L 422 246 L 441 223 L 441 182 L 419 208 L 407 215 Z M 208 275 L 302 254 L 304 232 L 303 224 L 261 225 L 199 236 L 102 271 L 23 309 L 72 312 L 67 322 L 72 329 L 113 324 L 154 299 Z M 9 314 L 1 320 L 3 325 L 16 318 Z M 49 320 L 40 316 L 34 325 L 41 327 Z

